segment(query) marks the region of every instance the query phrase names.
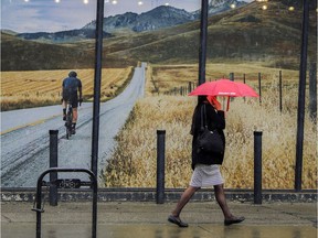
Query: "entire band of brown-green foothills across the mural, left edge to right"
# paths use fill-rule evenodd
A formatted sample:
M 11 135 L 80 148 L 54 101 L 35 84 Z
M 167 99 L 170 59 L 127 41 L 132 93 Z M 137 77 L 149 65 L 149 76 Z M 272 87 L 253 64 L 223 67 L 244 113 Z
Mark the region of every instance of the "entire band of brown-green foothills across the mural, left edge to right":
M 268 66 L 297 69 L 303 9 L 298 7 L 288 11 L 290 1 L 271 0 L 266 11 L 262 10 L 262 3 L 253 1 L 241 8 L 211 15 L 208 22 L 208 61 L 263 62 Z M 210 7 L 215 2 L 216 0 L 210 2 Z M 317 58 L 316 8 L 317 3 L 310 6 L 310 61 Z M 171 7 L 162 9 L 174 10 Z M 187 12 L 183 14 L 188 15 Z M 138 61 L 157 64 L 198 63 L 200 20 L 141 32 L 135 32 L 127 26 L 128 23 L 119 22 L 117 30 L 123 32 L 110 32 L 112 37 L 104 40 L 104 67 L 136 65 Z M 61 44 L 29 41 L 3 32 L 1 34 L 2 71 L 89 68 L 94 67 L 94 39 Z

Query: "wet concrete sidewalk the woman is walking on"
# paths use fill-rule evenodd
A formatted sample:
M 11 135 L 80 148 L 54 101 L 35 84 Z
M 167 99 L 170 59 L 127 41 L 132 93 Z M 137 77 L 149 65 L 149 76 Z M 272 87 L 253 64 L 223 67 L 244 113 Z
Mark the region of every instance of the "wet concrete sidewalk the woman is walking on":
M 190 202 L 181 214 L 189 223 L 179 228 L 167 221 L 176 203 L 99 202 L 97 204 L 97 237 L 107 238 L 316 238 L 317 203 L 229 202 L 232 213 L 245 216 L 242 224 L 224 226 L 215 202 Z M 36 213 L 32 203 L 1 203 L 1 237 L 35 237 Z M 60 202 L 44 204 L 42 237 L 92 237 L 92 203 Z

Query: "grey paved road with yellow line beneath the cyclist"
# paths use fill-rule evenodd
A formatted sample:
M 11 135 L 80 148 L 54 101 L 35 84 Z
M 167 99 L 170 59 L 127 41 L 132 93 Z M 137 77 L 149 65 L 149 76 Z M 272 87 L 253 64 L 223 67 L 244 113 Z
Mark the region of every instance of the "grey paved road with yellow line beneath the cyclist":
M 135 68 L 131 83 L 116 98 L 100 104 L 98 171 L 112 155 L 114 137 L 124 126 L 136 100 L 144 97 L 145 67 Z M 91 167 L 93 104 L 80 107 L 77 131 L 65 139 L 61 106 L 1 112 L 1 186 L 34 187 L 39 175 L 49 169 L 49 130 L 59 130 L 59 166 Z M 85 174 L 59 177 L 89 180 Z M 47 178 L 46 178 L 47 181 Z

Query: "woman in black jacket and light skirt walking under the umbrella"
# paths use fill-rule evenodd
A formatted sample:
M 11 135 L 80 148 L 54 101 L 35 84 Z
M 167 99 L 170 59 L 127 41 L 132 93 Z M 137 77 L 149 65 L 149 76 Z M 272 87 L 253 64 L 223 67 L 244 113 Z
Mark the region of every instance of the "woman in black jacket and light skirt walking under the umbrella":
M 178 225 L 179 227 L 188 227 L 189 225 L 181 220 L 180 214 L 183 207 L 188 204 L 193 194 L 201 187 L 214 187 L 215 198 L 224 215 L 224 225 L 242 223 L 244 217 L 236 217 L 231 212 L 226 204 L 225 193 L 223 188 L 224 180 L 220 173 L 220 165 L 223 163 L 224 151 L 206 152 L 198 147 L 198 136 L 201 130 L 201 110 L 205 107 L 206 122 L 209 130 L 214 129 L 220 133 L 224 150 L 225 150 L 225 129 L 224 111 L 221 110 L 221 104 L 215 96 L 201 96 L 194 109 L 192 117 L 191 134 L 192 139 L 192 177 L 190 185 L 181 195 L 176 208 L 168 216 L 168 221 Z

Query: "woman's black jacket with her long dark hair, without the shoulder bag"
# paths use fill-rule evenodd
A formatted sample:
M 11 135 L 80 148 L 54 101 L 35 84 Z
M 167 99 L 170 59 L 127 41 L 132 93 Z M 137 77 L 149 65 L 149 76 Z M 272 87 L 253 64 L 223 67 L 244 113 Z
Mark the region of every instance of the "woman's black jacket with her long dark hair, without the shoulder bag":
M 194 109 L 193 118 L 192 118 L 192 126 L 191 126 L 191 134 L 193 136 L 192 139 L 192 169 L 194 170 L 197 163 L 201 164 L 222 164 L 224 159 L 224 151 L 221 153 L 218 152 L 205 152 L 198 148 L 197 145 L 197 138 L 201 130 L 201 110 L 203 109 L 203 105 L 205 105 L 206 111 L 206 125 L 209 130 L 216 129 L 221 134 L 221 138 L 224 143 L 225 150 L 225 136 L 223 129 L 225 129 L 225 118 L 224 111 L 216 111 L 213 106 L 208 102 L 203 101 L 198 104 Z

